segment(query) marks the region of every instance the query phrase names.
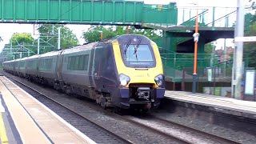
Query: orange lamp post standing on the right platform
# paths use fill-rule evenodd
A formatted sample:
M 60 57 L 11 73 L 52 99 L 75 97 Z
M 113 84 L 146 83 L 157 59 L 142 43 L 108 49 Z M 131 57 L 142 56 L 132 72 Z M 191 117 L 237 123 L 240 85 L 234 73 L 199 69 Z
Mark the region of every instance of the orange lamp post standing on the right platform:
M 198 38 L 199 38 L 199 33 L 198 33 L 198 8 L 197 8 L 197 15 L 195 18 L 195 31 L 193 34 L 194 37 L 194 70 L 193 70 L 193 86 L 192 86 L 192 92 L 196 92 L 196 81 L 197 81 L 197 61 L 198 61 Z

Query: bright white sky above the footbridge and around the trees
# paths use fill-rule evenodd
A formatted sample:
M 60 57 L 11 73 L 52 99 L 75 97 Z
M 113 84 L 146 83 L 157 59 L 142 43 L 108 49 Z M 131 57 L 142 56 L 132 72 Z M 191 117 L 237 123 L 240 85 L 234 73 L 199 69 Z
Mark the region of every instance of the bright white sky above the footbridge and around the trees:
M 143 1 L 143 0 L 139 0 L 139 1 Z M 146 0 L 146 1 L 153 1 L 153 0 Z M 177 2 L 178 7 L 194 6 L 194 3 L 198 3 L 199 7 L 222 6 L 222 7 L 233 7 L 233 8 L 236 6 L 236 2 L 237 2 L 237 0 L 159 0 L 159 1 L 154 0 L 154 2 L 163 2 L 163 1 Z M 182 14 L 182 12 L 183 11 L 179 11 L 178 14 Z M 225 11 L 222 11 L 222 13 L 224 14 Z M 195 10 L 194 12 L 192 10 L 191 14 L 192 15 L 195 14 Z M 185 12 L 185 15 L 186 16 L 188 15 L 188 11 Z M 206 19 L 207 19 L 207 16 L 206 16 Z M 181 19 L 179 19 L 178 21 L 181 21 Z M 79 40 L 79 44 L 82 44 L 84 42 L 82 38 L 82 32 L 88 30 L 90 25 L 66 25 L 66 26 L 69 27 L 74 34 L 76 34 Z M 4 45 L 9 42 L 11 35 L 14 33 L 30 33 L 34 38 L 38 37 L 37 31 L 34 31 L 34 25 L 0 23 L 0 36 L 3 39 L 3 42 L 0 42 L 0 51 L 2 50 Z M 233 46 L 232 41 L 233 41 L 232 39 L 227 40 L 227 46 Z M 224 42 L 223 39 L 215 42 L 216 49 L 221 49 L 223 47 L 223 42 Z

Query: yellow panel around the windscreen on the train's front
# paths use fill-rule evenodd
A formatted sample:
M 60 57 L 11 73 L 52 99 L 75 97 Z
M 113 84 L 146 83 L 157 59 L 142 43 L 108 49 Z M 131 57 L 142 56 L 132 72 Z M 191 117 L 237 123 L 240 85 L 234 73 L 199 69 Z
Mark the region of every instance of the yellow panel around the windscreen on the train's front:
M 119 47 L 118 40 L 112 42 L 114 50 L 114 58 L 117 65 L 118 74 L 126 74 L 130 77 L 130 83 L 151 83 L 154 87 L 158 87 L 154 82 L 154 77 L 158 74 L 163 74 L 162 60 L 158 51 L 158 46 L 154 42 L 151 42 L 151 46 L 154 49 L 154 55 L 156 59 L 156 66 L 149 68 L 148 70 L 136 70 L 131 67 L 126 67 L 122 61 L 122 55 Z M 128 85 L 126 86 L 128 87 Z

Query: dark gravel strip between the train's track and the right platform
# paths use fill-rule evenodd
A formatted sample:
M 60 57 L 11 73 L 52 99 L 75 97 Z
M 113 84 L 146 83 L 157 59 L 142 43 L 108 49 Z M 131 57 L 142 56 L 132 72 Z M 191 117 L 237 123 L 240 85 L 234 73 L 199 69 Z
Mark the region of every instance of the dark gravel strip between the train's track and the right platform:
M 222 126 L 217 126 L 214 124 L 209 124 L 207 122 L 203 122 L 199 119 L 194 118 L 186 118 L 182 117 L 179 114 L 171 114 L 166 112 L 165 110 L 158 110 L 158 112 L 152 113 L 154 116 L 158 118 L 166 119 L 170 122 L 176 122 L 178 124 L 182 124 L 184 126 L 190 126 L 192 128 L 203 130 L 207 133 L 222 136 L 224 138 L 229 138 L 236 142 L 246 143 L 246 144 L 255 144 L 256 143 L 256 134 L 246 134 L 241 131 L 234 131 L 227 129 Z

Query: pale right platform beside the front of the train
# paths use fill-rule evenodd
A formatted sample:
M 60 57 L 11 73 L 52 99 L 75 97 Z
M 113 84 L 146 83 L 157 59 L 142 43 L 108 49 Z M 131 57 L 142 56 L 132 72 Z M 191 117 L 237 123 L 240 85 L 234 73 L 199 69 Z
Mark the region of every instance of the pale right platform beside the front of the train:
M 191 92 L 173 90 L 166 90 L 165 98 L 178 102 L 210 107 L 210 110 L 224 114 L 256 119 L 256 102 L 210 94 L 193 94 Z

